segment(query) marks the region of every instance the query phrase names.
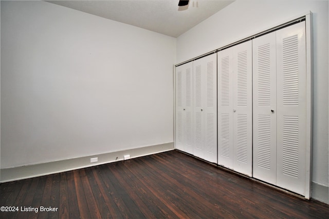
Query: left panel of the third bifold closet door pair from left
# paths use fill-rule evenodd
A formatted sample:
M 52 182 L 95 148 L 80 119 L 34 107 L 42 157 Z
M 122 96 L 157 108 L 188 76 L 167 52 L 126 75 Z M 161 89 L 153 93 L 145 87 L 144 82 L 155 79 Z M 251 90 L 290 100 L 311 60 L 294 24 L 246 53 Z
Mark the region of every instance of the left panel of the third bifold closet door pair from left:
M 217 55 L 218 164 L 233 169 L 233 49 Z

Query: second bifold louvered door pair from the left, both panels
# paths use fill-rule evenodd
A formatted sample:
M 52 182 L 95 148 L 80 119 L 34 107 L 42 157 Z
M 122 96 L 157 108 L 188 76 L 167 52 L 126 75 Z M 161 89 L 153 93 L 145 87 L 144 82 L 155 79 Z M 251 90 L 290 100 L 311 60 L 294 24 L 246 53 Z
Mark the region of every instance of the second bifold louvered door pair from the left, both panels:
M 193 62 L 194 155 L 217 162 L 216 54 Z

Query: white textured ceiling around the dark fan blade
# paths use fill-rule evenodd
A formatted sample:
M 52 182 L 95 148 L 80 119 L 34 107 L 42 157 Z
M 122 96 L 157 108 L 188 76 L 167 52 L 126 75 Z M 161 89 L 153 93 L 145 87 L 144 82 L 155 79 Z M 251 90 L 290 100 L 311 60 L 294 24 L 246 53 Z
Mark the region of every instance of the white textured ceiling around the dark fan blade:
M 234 1 L 178 0 L 47 1 L 114 21 L 177 37 Z

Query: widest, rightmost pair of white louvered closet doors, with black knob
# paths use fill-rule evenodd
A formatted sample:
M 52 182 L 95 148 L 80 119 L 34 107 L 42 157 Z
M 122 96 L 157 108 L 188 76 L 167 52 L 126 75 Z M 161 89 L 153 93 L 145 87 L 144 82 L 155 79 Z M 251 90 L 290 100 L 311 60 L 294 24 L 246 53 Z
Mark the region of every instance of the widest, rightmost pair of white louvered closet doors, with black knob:
M 304 195 L 305 22 L 255 38 L 252 44 L 253 177 Z

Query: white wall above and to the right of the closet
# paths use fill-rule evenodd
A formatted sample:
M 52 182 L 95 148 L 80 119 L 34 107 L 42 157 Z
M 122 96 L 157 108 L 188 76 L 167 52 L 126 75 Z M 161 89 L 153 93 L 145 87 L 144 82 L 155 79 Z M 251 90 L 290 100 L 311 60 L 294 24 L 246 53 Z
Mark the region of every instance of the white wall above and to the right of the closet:
M 313 182 L 328 186 L 328 1 L 237 0 L 177 38 L 177 63 L 313 12 Z

